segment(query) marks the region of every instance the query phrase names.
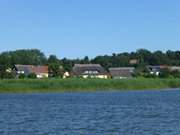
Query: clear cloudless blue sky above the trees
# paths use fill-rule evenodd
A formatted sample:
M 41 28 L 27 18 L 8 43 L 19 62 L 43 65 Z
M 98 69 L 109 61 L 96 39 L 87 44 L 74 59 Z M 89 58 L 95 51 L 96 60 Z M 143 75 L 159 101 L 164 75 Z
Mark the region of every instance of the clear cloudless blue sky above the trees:
M 0 52 L 83 58 L 180 50 L 180 0 L 0 0 Z

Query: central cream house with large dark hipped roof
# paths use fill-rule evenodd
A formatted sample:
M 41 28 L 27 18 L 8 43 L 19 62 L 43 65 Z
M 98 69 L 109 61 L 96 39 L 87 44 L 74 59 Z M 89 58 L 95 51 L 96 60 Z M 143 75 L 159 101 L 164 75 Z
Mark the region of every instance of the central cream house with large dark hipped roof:
M 75 64 L 72 74 L 82 78 L 108 78 L 107 71 L 100 64 Z

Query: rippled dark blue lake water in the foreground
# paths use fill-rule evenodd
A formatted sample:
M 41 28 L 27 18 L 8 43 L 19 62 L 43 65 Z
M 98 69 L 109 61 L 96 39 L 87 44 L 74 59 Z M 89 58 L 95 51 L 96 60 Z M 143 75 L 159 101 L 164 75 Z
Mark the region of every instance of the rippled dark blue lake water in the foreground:
M 180 90 L 0 94 L 0 135 L 180 135 Z

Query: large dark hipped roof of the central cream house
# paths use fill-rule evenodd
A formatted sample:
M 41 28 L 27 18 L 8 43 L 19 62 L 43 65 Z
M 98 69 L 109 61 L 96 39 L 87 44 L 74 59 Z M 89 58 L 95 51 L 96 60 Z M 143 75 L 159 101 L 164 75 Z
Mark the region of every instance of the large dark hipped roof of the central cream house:
M 75 64 L 74 75 L 104 75 L 107 71 L 100 64 Z

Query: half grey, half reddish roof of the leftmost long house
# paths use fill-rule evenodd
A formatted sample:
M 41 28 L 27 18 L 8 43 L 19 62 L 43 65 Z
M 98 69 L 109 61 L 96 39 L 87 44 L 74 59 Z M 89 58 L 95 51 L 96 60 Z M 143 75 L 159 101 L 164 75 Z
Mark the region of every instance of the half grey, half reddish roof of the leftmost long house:
M 48 66 L 34 66 L 34 65 L 15 65 L 16 71 L 24 71 L 24 74 L 30 73 L 48 73 Z

